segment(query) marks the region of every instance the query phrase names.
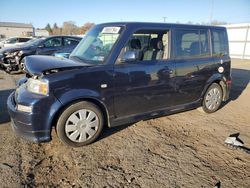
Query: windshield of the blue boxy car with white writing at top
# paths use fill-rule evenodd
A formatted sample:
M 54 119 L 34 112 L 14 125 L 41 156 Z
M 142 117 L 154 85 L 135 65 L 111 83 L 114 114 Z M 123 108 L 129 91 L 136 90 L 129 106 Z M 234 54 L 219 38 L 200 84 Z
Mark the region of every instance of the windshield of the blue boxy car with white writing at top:
M 103 64 L 120 36 L 121 27 L 95 26 L 71 53 L 71 59 L 88 64 Z

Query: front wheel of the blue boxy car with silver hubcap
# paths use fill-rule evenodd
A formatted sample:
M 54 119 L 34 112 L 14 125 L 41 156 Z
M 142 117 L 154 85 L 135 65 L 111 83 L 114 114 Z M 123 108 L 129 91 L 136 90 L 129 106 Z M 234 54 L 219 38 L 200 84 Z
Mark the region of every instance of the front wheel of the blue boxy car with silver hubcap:
M 103 129 L 103 114 L 93 103 L 82 101 L 68 106 L 60 115 L 56 132 L 66 145 L 80 147 L 94 142 Z

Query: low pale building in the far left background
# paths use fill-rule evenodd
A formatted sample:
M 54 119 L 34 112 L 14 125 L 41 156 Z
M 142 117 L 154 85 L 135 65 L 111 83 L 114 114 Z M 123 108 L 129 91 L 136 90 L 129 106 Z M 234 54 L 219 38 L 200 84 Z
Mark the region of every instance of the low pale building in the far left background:
M 0 22 L 0 38 L 13 36 L 34 36 L 32 24 Z

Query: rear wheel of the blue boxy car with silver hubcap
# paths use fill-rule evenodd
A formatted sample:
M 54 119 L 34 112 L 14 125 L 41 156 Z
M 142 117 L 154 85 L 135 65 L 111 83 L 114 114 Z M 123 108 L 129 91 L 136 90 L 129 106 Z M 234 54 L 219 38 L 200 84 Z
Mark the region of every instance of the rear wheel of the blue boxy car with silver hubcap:
M 207 89 L 203 101 L 202 110 L 206 113 L 216 112 L 222 103 L 223 92 L 219 84 L 213 83 Z

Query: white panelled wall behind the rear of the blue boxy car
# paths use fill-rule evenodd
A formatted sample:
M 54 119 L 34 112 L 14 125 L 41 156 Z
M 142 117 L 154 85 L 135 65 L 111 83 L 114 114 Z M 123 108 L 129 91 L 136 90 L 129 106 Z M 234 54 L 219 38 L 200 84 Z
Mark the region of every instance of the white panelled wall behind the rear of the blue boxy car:
M 224 26 L 227 28 L 230 56 L 250 59 L 250 23 Z

